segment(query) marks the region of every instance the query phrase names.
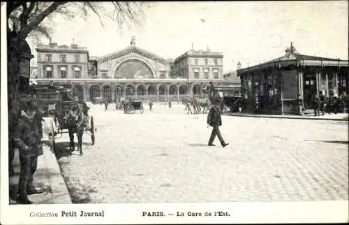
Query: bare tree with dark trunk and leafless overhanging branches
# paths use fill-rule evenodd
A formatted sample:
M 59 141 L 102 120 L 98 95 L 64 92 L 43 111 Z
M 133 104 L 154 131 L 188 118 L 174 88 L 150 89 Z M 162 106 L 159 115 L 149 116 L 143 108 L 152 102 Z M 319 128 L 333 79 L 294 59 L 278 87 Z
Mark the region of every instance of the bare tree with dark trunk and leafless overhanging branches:
M 3 4 L 3 3 L 1 3 Z M 55 15 L 61 15 L 68 20 L 76 17 L 96 15 L 103 25 L 103 20 L 112 19 L 119 28 L 123 24 L 133 22 L 140 24 L 144 17 L 144 3 L 128 1 L 111 2 L 38 2 L 38 1 L 8 1 L 7 40 L 8 40 L 8 116 L 9 128 L 13 127 L 18 115 L 20 97 L 20 62 L 26 38 L 45 36 L 51 40 L 50 22 Z M 9 129 L 9 137 L 12 136 Z

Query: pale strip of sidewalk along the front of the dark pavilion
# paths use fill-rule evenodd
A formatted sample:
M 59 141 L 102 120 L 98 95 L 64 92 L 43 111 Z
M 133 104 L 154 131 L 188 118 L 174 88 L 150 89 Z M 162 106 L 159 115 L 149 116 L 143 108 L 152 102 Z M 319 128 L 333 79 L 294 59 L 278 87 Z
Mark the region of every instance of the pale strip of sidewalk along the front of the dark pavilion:
M 247 114 L 247 113 L 225 113 L 234 117 L 260 117 L 260 118 L 276 118 L 276 119 L 314 119 L 314 120 L 333 120 L 333 121 L 348 121 L 348 113 L 332 113 L 329 115 L 320 115 L 315 117 L 313 113 L 305 115 L 263 115 L 263 114 Z

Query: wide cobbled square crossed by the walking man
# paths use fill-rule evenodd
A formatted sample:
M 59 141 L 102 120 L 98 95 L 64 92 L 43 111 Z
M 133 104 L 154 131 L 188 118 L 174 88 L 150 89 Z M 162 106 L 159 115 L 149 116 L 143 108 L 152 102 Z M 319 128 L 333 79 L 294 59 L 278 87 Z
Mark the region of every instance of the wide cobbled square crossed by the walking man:
M 348 200 L 348 122 L 223 117 L 223 148 L 181 106 L 91 114 L 96 144 L 59 156 L 75 202 Z

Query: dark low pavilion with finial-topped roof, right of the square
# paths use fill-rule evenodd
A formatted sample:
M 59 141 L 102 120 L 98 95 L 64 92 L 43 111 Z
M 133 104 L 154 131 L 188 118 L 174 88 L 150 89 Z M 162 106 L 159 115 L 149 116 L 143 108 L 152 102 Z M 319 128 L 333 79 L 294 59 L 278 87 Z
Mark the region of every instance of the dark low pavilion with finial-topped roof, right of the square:
M 295 47 L 265 63 L 238 69 L 243 112 L 293 114 L 300 94 L 306 110 L 313 109 L 315 94 L 348 94 L 348 60 L 302 55 Z

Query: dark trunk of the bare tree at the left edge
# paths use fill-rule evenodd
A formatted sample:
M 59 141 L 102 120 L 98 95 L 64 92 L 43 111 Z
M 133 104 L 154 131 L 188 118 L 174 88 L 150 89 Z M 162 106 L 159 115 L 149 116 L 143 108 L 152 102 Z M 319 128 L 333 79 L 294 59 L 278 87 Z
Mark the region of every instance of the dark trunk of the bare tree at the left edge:
M 13 128 L 19 115 L 20 61 L 22 50 L 17 38 L 8 38 L 8 140 L 13 137 Z

